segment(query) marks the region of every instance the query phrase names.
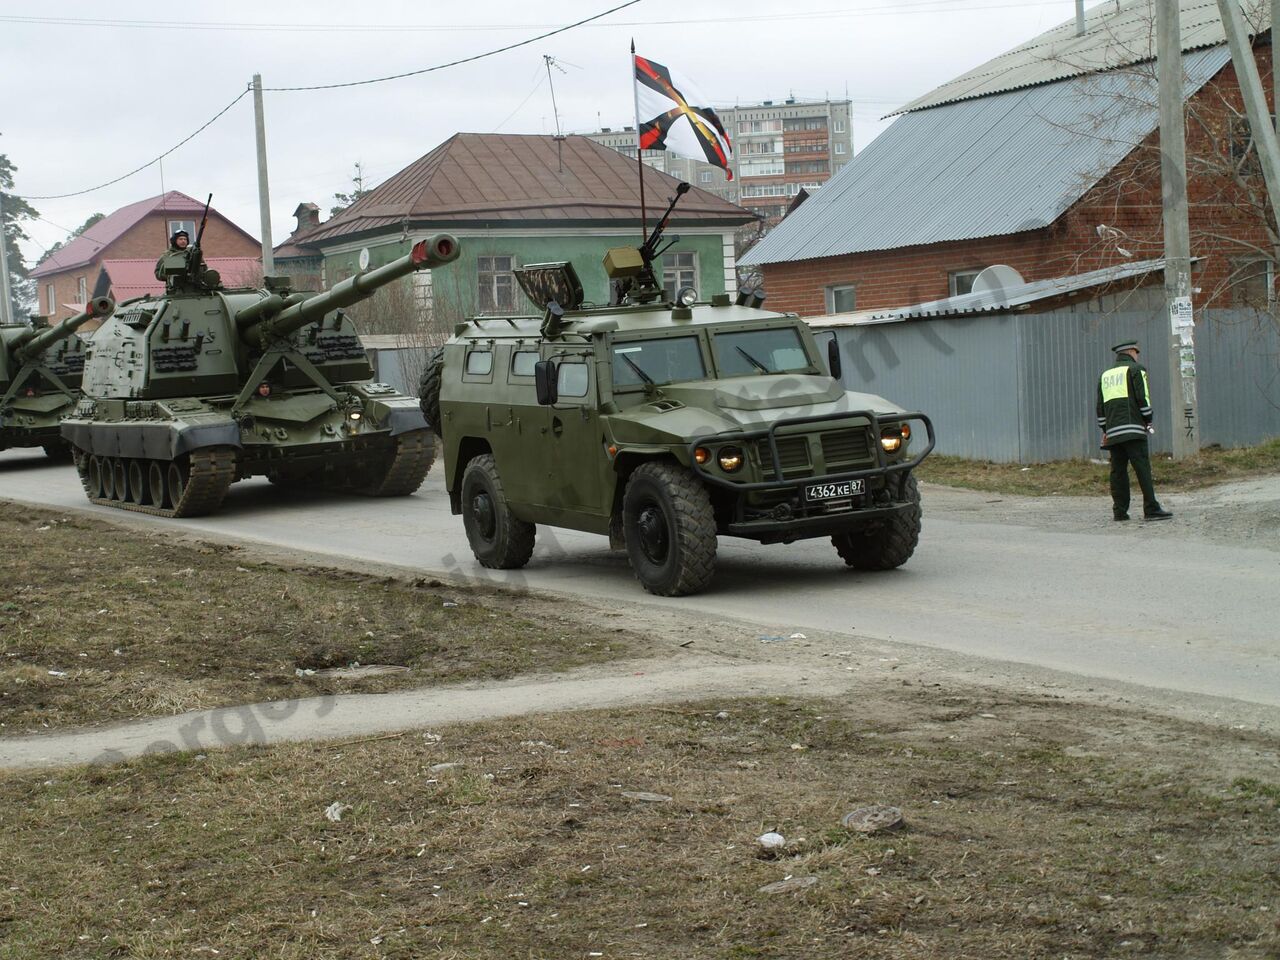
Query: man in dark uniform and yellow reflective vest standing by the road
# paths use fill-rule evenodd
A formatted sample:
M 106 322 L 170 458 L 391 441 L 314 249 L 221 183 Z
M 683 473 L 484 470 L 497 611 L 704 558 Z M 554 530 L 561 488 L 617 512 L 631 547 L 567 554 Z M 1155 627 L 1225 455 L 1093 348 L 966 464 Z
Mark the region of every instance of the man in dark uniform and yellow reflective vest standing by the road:
M 1125 340 L 1111 348 L 1115 364 L 1098 379 L 1098 429 L 1102 447 L 1111 454 L 1111 509 L 1115 520 L 1129 518 L 1129 465 L 1142 488 L 1142 518 L 1169 520 L 1174 515 L 1160 506 L 1151 479 L 1147 436 L 1151 425 L 1151 387 L 1147 367 L 1138 362 L 1138 342 Z

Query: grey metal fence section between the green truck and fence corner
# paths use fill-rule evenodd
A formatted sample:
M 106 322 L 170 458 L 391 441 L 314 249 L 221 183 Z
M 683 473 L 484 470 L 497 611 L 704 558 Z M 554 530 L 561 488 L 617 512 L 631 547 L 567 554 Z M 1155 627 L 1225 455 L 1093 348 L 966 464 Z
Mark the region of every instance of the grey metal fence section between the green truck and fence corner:
M 836 328 L 842 379 L 927 413 L 938 453 L 1016 461 L 1014 326 L 1009 316 L 984 316 Z

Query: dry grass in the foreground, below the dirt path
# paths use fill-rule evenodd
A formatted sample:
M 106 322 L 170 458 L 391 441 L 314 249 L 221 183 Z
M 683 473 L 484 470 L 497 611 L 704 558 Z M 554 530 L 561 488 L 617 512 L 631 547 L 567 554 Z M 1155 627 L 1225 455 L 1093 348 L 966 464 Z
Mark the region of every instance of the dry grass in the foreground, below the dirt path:
M 1276 956 L 1280 790 L 1196 763 L 1274 742 L 1147 719 L 1169 765 L 1132 716 L 947 692 L 0 777 L 0 957 Z M 906 827 L 838 826 L 868 803 Z

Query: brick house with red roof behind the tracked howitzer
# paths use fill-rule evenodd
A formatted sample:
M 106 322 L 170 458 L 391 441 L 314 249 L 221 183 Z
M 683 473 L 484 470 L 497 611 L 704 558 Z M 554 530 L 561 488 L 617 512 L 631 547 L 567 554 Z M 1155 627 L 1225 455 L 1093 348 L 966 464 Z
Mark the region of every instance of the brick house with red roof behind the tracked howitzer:
M 95 294 L 104 275 L 105 261 L 145 260 L 154 268 L 175 230 L 186 229 L 192 239 L 196 238 L 204 211 L 205 205 L 200 201 L 186 193 L 169 191 L 123 206 L 102 218 L 65 247 L 50 253 L 31 271 L 37 283 L 37 312 L 47 315 L 54 323 L 76 314 L 78 305 Z M 261 260 L 259 242 L 212 207 L 209 210 L 202 246 L 206 260 Z M 116 273 L 120 273 L 120 268 L 116 268 Z M 106 270 L 106 275 L 110 276 L 110 270 Z

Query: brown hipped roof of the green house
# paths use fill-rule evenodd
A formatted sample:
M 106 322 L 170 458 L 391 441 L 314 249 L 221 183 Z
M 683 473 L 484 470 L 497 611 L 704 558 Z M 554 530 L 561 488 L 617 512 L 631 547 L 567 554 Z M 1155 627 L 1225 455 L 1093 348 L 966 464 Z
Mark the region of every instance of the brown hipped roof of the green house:
M 644 168 L 649 221 L 675 195 L 676 178 Z M 672 224 L 740 225 L 756 216 L 694 187 Z M 316 243 L 431 224 L 640 223 L 635 160 L 588 137 L 457 133 L 294 243 Z

